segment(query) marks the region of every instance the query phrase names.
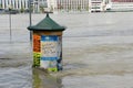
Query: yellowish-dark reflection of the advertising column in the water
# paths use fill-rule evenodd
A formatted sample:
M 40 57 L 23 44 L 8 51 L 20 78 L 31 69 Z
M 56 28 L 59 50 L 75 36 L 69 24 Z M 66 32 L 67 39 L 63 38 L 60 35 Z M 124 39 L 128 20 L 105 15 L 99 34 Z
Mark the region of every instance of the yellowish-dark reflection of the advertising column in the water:
M 60 77 L 53 77 L 42 69 L 32 68 L 33 87 L 32 88 L 62 88 Z

